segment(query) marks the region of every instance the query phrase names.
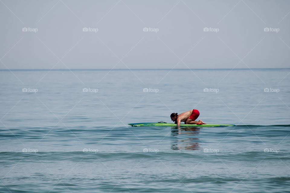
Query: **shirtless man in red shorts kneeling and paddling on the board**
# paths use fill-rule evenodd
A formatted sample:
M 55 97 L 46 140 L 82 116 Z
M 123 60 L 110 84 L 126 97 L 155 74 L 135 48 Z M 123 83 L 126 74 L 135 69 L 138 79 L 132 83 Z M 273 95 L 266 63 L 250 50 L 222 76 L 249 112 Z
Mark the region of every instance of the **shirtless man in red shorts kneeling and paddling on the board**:
M 180 126 L 180 122 L 184 124 L 206 124 L 201 120 L 195 121 L 199 116 L 199 111 L 196 109 L 186 111 L 182 114 L 172 113 L 170 115 L 171 121 L 174 121 L 177 126 Z

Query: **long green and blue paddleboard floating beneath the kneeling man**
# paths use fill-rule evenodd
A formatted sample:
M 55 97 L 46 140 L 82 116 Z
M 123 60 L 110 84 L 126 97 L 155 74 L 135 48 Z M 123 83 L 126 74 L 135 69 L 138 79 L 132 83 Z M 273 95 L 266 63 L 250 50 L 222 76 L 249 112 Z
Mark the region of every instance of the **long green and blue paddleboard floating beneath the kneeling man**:
M 161 127 L 176 127 L 176 124 L 174 123 L 129 123 L 128 125 L 131 125 L 132 127 L 155 127 L 155 126 L 161 126 Z M 204 124 L 204 125 L 188 125 L 188 124 L 180 124 L 180 127 L 230 127 L 235 125 L 229 125 L 229 124 Z

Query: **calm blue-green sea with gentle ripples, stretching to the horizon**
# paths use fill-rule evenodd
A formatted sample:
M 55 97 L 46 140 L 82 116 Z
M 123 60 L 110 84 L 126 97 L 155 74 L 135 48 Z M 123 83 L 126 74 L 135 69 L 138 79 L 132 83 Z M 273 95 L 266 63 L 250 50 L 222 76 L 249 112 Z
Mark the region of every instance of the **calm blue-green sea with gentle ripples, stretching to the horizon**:
M 2 70 L 0 192 L 289 192 L 289 72 Z

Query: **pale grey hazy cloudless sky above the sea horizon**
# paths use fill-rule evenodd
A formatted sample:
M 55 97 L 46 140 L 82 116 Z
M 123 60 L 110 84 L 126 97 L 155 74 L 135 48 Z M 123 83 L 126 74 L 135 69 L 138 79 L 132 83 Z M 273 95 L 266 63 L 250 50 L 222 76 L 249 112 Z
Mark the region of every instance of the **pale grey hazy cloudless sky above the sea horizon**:
M 1 0 L 0 69 L 288 68 L 289 12 L 288 0 Z

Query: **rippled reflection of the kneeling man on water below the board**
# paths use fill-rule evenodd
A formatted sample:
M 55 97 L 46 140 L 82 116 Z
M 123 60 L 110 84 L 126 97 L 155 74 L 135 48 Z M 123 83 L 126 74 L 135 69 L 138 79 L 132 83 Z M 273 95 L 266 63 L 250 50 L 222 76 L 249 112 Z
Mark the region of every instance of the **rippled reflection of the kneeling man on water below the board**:
M 172 136 L 172 150 L 199 150 L 200 146 L 198 143 L 199 138 L 197 137 L 200 128 L 196 127 L 182 127 L 182 128 L 171 128 Z

